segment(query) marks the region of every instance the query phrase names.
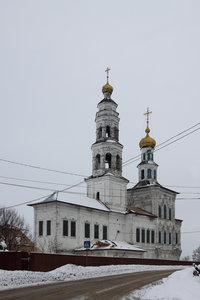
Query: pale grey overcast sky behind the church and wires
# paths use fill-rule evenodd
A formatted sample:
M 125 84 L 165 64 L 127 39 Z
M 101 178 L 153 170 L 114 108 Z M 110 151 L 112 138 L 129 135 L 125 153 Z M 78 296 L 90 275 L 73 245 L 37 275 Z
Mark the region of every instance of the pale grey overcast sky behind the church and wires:
M 200 122 L 199 12 L 198 0 L 0 0 L 0 159 L 91 175 L 94 118 L 107 66 L 124 161 L 140 153 L 147 107 L 157 144 Z M 194 188 L 200 187 L 199 135 L 155 153 L 159 183 L 187 198 L 176 201 L 183 256 L 200 245 L 200 199 L 191 199 L 200 196 Z M 137 163 L 123 169 L 135 183 Z M 3 161 L 0 176 L 63 184 L 82 180 Z M 3 177 L 0 182 L 64 187 Z M 0 204 L 49 193 L 0 184 Z M 32 226 L 33 208 L 17 209 Z

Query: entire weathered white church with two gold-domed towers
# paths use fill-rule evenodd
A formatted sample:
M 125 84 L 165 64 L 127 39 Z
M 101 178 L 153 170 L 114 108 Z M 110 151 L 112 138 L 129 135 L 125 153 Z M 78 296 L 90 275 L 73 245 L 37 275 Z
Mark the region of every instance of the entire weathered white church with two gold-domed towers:
M 92 144 L 92 175 L 85 179 L 87 195 L 54 193 L 34 208 L 36 245 L 44 252 L 178 260 L 181 220 L 175 218 L 177 193 L 157 181 L 156 142 L 140 141 L 138 183 L 127 189 L 122 176 L 117 103 L 112 86 L 103 86 L 97 105 L 96 141 Z

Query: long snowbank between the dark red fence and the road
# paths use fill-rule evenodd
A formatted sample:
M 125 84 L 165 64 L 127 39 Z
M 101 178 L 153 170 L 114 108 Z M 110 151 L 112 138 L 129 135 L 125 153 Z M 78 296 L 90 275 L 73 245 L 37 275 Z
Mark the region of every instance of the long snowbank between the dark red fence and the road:
M 0 270 L 0 290 L 29 285 L 41 285 L 57 281 L 79 280 L 122 273 L 177 268 L 180 269 L 180 267 L 177 266 L 110 265 L 100 267 L 81 267 L 68 264 L 50 272 Z

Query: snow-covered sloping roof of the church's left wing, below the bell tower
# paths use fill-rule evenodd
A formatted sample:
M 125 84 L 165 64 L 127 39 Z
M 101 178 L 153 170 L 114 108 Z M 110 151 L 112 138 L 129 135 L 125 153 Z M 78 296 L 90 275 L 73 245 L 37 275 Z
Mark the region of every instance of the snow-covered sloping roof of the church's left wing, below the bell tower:
M 49 202 L 55 202 L 55 201 L 60 201 L 64 202 L 67 204 L 73 204 L 73 205 L 78 205 L 78 206 L 84 206 L 84 207 L 89 207 L 93 209 L 99 209 L 103 211 L 110 211 L 106 205 L 101 202 L 100 200 L 96 200 L 93 198 L 89 198 L 85 195 L 77 195 L 77 194 L 67 194 L 67 193 L 54 193 L 50 197 L 46 198 L 42 202 L 38 202 L 35 204 L 30 204 L 30 206 L 38 205 L 38 204 L 43 204 L 43 203 L 49 203 Z

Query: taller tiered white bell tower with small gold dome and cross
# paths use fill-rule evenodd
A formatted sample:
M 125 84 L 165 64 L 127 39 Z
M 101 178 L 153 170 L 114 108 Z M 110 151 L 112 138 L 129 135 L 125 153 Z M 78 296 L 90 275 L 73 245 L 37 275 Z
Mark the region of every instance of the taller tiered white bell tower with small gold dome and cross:
M 122 177 L 122 149 L 119 143 L 119 113 L 117 103 L 111 99 L 113 87 L 107 82 L 102 87 L 104 99 L 96 113 L 96 141 L 92 144 L 92 176 L 86 179 L 87 196 L 101 200 L 111 209 L 125 210 L 126 185 Z

